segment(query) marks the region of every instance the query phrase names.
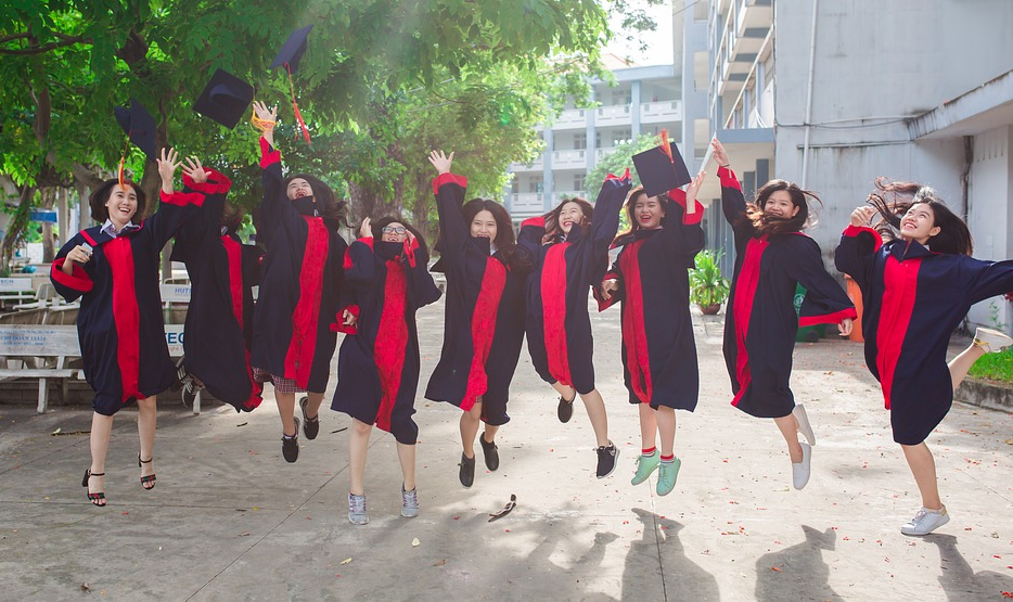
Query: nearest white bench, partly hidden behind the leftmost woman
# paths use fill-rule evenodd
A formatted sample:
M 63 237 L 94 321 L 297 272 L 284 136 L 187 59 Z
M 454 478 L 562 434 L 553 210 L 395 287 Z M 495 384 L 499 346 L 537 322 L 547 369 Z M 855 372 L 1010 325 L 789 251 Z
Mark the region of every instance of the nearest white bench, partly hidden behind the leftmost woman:
M 30 311 L 21 311 L 23 316 Z M 69 313 L 76 307 L 59 308 Z M 169 357 L 183 355 L 183 324 L 166 324 L 165 338 Z M 38 413 L 46 413 L 49 401 L 49 381 L 59 379 L 63 396 L 67 397 L 67 379 L 84 379 L 84 370 L 70 368 L 81 356 L 77 340 L 77 326 L 72 324 L 10 324 L 0 323 L 0 383 L 16 379 L 39 380 Z M 21 368 L 10 368 L 11 362 L 21 362 Z M 193 401 L 193 413 L 201 413 L 201 393 Z

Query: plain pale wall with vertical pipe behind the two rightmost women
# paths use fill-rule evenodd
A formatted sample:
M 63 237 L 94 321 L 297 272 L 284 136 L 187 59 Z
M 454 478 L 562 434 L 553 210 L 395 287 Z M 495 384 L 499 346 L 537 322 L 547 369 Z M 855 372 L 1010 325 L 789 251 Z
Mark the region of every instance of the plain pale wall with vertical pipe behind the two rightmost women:
M 803 182 L 812 0 L 774 2 L 774 177 Z M 931 183 L 959 208 L 963 143 L 912 142 L 906 119 L 1010 69 L 1009 0 L 822 0 L 806 185 L 833 249 L 876 176 Z M 989 40 L 987 44 L 970 40 Z

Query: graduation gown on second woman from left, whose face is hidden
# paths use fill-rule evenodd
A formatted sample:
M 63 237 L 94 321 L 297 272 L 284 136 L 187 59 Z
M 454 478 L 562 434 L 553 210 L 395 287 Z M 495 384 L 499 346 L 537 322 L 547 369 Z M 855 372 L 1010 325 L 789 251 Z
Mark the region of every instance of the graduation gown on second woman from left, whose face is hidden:
M 192 285 L 183 338 L 187 370 L 236 411 L 260 405 L 261 385 L 249 368 L 253 343 L 253 286 L 259 283 L 260 249 L 235 232 L 222 233 L 221 212 L 232 181 L 214 169 L 187 190 L 207 195 L 200 215 L 183 222 L 172 245 L 172 260 L 187 265 Z

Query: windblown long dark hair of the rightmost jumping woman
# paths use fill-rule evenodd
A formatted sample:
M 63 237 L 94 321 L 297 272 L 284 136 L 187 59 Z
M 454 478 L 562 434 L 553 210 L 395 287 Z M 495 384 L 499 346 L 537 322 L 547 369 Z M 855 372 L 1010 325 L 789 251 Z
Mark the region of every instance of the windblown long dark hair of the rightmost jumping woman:
M 974 239 L 971 230 L 957 214 L 946 206 L 936 191 L 915 182 L 892 182 L 889 178 L 876 178 L 876 190 L 869 194 L 869 204 L 883 218 L 874 226 L 887 241 L 900 238 L 900 220 L 913 205 L 925 204 L 932 209 L 933 226 L 939 233 L 928 238 L 928 248 L 936 253 L 971 255 Z

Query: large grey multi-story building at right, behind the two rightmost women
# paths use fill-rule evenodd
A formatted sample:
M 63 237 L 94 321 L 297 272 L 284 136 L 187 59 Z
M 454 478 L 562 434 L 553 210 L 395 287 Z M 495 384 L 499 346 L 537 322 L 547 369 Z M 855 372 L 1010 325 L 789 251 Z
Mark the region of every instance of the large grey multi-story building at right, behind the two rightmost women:
M 879 176 L 933 185 L 967 216 L 976 257 L 1013 257 L 1013 2 L 674 4 L 691 170 L 717 133 L 747 194 L 774 177 L 818 191 L 809 233 L 828 265 Z M 702 196 L 711 245 L 732 254 L 714 178 Z M 970 318 L 1010 324 L 1010 309 L 992 299 Z

